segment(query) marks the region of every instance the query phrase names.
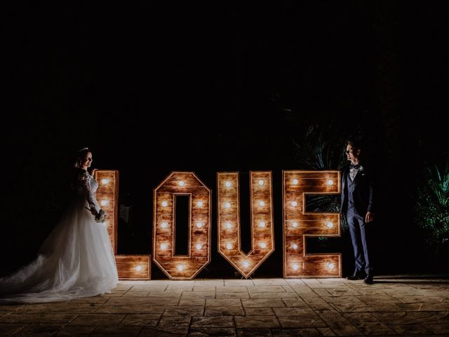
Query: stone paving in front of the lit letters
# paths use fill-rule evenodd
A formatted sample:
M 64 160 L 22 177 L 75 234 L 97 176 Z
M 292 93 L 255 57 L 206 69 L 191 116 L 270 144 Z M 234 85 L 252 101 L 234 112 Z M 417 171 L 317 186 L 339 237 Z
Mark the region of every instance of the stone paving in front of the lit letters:
M 119 282 L 112 293 L 0 305 L 0 336 L 449 336 L 449 279 Z

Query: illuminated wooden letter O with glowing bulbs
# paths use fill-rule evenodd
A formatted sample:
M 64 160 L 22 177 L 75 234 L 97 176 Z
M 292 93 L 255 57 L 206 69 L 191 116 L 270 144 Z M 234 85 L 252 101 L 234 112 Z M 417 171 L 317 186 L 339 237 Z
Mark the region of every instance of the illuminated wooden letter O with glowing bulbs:
M 172 172 L 154 189 L 153 259 L 170 279 L 193 279 L 210 262 L 210 189 L 193 172 Z M 189 197 L 189 254 L 175 248 L 175 196 Z

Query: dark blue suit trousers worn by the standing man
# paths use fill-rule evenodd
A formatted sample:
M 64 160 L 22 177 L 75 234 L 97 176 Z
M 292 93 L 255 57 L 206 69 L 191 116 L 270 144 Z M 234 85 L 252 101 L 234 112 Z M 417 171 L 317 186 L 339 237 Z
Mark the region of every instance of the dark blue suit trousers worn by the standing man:
M 373 275 L 373 251 L 370 245 L 370 230 L 372 224 L 367 224 L 365 219 L 358 215 L 354 207 L 349 207 L 347 211 L 349 233 L 351 234 L 352 248 L 356 260 L 355 272 L 363 270 L 366 274 Z

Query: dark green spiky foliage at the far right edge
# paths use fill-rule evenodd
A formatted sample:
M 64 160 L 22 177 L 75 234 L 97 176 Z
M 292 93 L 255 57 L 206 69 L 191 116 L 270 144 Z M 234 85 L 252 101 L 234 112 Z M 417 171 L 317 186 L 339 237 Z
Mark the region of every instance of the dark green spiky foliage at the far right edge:
M 445 164 L 429 165 L 417 189 L 415 223 L 423 234 L 429 253 L 441 256 L 449 250 L 449 157 Z

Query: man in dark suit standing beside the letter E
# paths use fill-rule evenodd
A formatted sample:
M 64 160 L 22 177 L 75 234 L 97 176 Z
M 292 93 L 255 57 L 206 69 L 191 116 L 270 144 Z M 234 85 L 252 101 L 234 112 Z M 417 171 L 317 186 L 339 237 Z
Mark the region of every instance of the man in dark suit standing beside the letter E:
M 342 172 L 342 213 L 347 216 L 352 248 L 356 260 L 349 280 L 364 279 L 373 284 L 373 220 L 375 218 L 375 184 L 373 172 L 363 161 L 363 149 L 357 140 L 348 140 L 346 146 L 349 166 Z

